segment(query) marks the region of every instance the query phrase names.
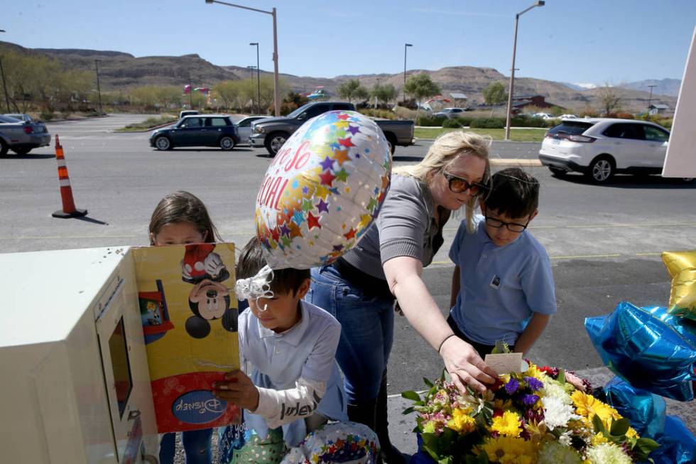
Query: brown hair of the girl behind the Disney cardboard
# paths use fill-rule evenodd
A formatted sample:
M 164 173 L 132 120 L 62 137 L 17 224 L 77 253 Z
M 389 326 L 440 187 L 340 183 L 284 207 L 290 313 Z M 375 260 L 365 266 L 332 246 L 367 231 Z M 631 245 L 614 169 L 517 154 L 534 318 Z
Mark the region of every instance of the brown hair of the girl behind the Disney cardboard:
M 150 244 L 155 244 L 152 237 L 157 235 L 162 227 L 176 222 L 190 222 L 201 234 L 207 232 L 205 242 L 221 241 L 203 202 L 197 196 L 179 190 L 165 196 L 155 207 L 148 227 L 151 234 Z

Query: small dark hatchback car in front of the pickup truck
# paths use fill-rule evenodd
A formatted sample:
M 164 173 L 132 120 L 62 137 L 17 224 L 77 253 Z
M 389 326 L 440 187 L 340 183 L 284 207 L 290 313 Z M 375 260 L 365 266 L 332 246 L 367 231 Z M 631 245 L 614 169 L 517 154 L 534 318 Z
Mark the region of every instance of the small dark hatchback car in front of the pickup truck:
M 150 146 L 170 150 L 177 146 L 219 146 L 229 151 L 239 144 L 232 119 L 224 114 L 186 116 L 176 124 L 153 131 Z

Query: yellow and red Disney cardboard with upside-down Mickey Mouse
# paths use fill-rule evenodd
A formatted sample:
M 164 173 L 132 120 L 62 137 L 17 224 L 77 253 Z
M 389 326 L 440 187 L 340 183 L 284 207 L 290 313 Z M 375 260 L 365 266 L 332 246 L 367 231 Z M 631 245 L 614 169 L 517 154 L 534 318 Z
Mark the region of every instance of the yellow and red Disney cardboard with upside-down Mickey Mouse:
M 159 433 L 239 422 L 212 383 L 239 368 L 234 244 L 134 249 Z

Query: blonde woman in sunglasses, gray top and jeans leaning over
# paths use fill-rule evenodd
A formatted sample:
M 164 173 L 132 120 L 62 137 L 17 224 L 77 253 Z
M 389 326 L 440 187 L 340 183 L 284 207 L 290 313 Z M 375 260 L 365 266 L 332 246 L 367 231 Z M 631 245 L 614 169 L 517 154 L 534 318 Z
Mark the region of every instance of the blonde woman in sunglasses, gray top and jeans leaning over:
M 423 283 L 423 267 L 442 246 L 452 211 L 473 212 L 487 190 L 490 141 L 454 131 L 433 143 L 423 161 L 394 172 L 375 224 L 330 266 L 312 269 L 308 300 L 342 326 L 337 360 L 344 373 L 348 416 L 373 428 L 385 463 L 404 462 L 391 446 L 386 421 L 386 366 L 393 342 L 394 305 L 445 361 L 460 389 L 484 390 L 495 372 L 457 338 Z

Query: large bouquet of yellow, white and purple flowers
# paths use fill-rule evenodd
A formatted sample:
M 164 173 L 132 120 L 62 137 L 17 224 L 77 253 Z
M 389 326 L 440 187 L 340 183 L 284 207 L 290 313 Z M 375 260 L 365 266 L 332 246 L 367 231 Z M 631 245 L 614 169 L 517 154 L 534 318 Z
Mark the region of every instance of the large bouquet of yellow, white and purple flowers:
M 420 454 L 438 464 L 629 464 L 649 460 L 658 447 L 589 384 L 562 369 L 530 364 L 499 376 L 481 394 L 460 392 L 446 373 L 404 414 L 418 411 Z

